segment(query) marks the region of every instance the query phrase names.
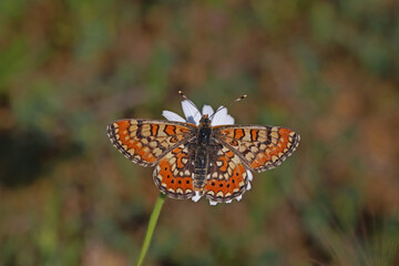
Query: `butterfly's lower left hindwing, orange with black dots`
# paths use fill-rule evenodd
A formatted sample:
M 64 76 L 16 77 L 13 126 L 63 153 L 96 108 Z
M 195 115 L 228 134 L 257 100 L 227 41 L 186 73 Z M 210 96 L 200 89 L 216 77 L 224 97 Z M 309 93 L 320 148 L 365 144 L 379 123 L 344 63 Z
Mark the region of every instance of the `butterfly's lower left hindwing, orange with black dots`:
M 170 197 L 184 200 L 195 195 L 193 185 L 194 166 L 191 151 L 181 144 L 166 153 L 154 170 L 154 182 L 161 192 Z

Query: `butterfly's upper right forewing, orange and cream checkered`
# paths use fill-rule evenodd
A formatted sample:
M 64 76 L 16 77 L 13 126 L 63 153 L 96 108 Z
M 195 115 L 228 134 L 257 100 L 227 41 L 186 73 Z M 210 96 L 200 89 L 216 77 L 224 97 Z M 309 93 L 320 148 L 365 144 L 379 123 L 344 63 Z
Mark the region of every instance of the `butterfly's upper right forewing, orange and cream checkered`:
M 300 136 L 279 126 L 221 125 L 214 127 L 215 137 L 256 172 L 270 170 L 293 154 Z

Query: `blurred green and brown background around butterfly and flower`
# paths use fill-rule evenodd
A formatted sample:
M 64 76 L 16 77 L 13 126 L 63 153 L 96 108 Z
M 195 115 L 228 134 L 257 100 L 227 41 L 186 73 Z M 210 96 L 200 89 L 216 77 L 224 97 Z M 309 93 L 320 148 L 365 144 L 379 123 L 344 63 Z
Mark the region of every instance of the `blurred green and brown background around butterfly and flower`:
M 396 0 L 0 1 L 0 265 L 134 265 L 158 190 L 105 126 L 242 94 L 301 135 L 243 201 L 166 198 L 145 265 L 399 265 Z

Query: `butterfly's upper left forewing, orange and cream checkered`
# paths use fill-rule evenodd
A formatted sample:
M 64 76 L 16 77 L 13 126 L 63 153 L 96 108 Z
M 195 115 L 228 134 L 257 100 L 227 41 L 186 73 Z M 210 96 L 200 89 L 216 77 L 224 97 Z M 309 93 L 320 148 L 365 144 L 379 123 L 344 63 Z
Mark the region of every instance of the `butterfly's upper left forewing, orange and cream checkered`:
M 129 160 L 143 166 L 155 165 L 181 143 L 193 137 L 190 123 L 157 120 L 120 120 L 106 130 L 112 144 Z

